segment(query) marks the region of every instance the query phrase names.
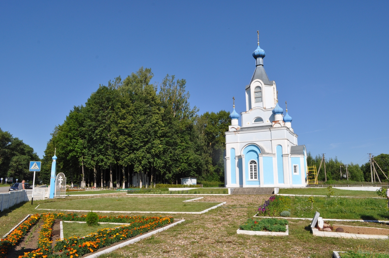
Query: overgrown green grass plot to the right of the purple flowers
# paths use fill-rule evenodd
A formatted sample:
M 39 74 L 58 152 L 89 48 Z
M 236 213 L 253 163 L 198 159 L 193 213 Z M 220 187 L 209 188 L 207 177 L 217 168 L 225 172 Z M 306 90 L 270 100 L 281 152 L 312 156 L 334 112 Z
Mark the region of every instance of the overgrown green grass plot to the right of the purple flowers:
M 313 197 L 313 209 L 309 197 L 291 197 L 291 216 L 313 218 L 315 211 L 322 218 L 350 220 L 389 220 L 387 200 L 372 198 Z

